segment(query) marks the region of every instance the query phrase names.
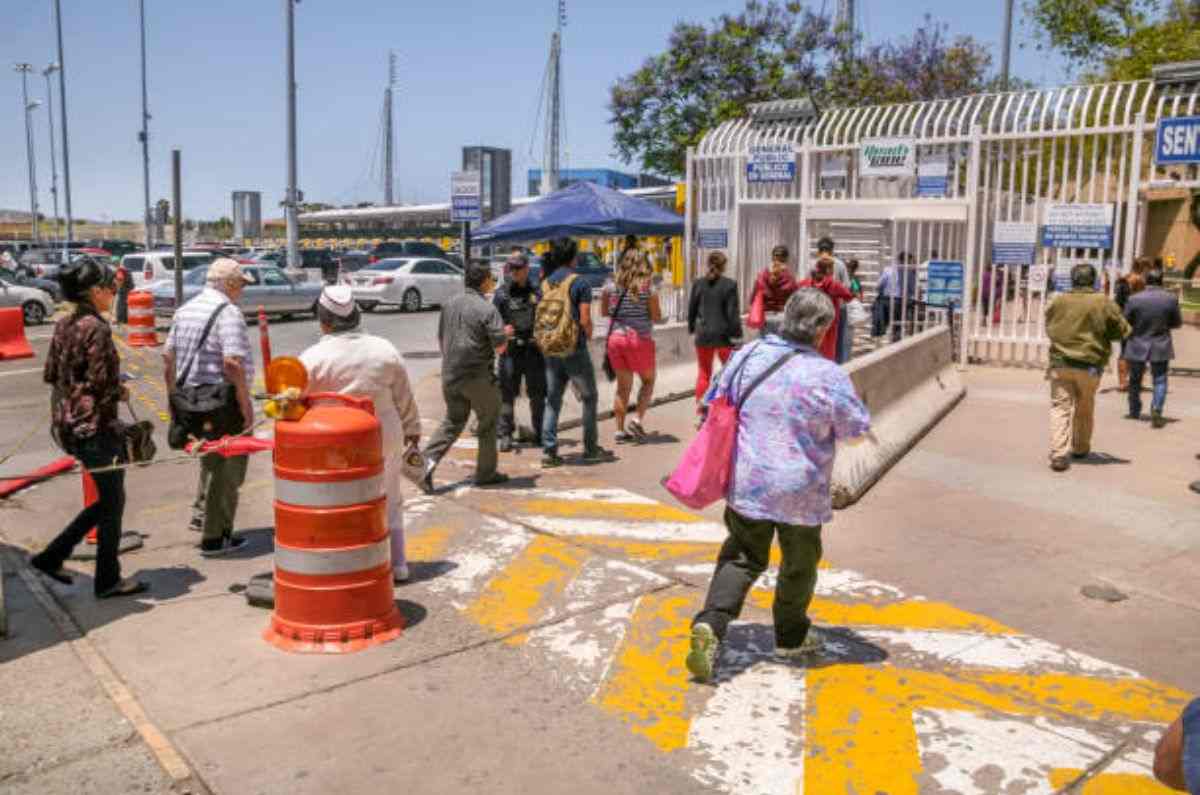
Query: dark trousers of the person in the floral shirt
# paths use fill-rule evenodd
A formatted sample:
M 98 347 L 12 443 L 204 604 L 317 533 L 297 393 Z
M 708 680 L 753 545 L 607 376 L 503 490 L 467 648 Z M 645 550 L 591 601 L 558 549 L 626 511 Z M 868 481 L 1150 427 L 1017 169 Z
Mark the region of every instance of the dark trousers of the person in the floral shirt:
M 725 527 L 730 534 L 716 557 L 716 572 L 708 586 L 704 609 L 692 624 L 707 623 L 718 638 L 725 638 L 730 622 L 742 615 L 742 605 L 755 580 L 767 570 L 770 542 L 778 533 L 784 561 L 779 566 L 773 608 L 775 647 L 796 648 L 804 642 L 812 626 L 808 614 L 817 586 L 821 526 L 746 519 L 726 508 Z

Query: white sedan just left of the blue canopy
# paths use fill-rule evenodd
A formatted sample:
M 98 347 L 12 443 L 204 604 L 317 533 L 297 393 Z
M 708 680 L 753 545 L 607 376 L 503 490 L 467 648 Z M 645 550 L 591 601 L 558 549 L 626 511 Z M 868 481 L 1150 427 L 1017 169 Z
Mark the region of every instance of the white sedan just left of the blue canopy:
M 444 259 L 389 258 L 370 268 L 343 276 L 364 311 L 377 306 L 400 306 L 416 312 L 426 306 L 440 306 L 464 287 L 462 273 Z

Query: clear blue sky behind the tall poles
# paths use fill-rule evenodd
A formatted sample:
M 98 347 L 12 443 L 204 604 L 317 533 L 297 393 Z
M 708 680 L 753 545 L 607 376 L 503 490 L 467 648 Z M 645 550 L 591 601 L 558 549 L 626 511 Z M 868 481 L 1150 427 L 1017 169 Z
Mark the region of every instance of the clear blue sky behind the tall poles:
M 833 0 L 827 0 L 833 6 Z M 396 106 L 398 195 L 445 201 L 460 147 L 514 150 L 516 195 L 529 154 L 556 0 L 304 0 L 296 8 L 300 187 L 310 201 L 379 201 L 367 177 L 378 138 L 388 49 L 401 58 Z M 820 6 L 817 0 L 814 5 Z M 1016 4 L 1020 8 L 1020 2 Z M 49 0 L 5 0 L 5 55 L 38 68 L 54 60 Z M 571 166 L 623 167 L 612 156 L 607 89 L 660 52 L 677 19 L 708 20 L 742 0 L 574 0 L 564 44 Z M 137 0 L 62 0 L 72 183 L 78 216 L 140 216 L 142 166 Z M 862 0 L 869 40 L 911 31 L 925 13 L 992 47 L 1002 0 Z M 284 26 L 281 0 L 146 0 L 150 59 L 151 201 L 170 196 L 170 150 L 184 153 L 188 217 L 229 215 L 229 192 L 263 192 L 277 216 L 287 179 Z M 1016 26 L 1018 41 L 1027 38 Z M 1061 62 L 1016 49 L 1014 72 L 1038 84 L 1066 79 Z M 29 208 L 19 77 L 0 80 L 0 208 Z M 35 74 L 31 92 L 44 98 Z M 55 92 L 58 86 L 55 83 Z M 41 207 L 50 211 L 48 132 L 36 114 Z M 60 163 L 61 171 L 61 163 Z M 630 167 L 630 171 L 635 171 Z

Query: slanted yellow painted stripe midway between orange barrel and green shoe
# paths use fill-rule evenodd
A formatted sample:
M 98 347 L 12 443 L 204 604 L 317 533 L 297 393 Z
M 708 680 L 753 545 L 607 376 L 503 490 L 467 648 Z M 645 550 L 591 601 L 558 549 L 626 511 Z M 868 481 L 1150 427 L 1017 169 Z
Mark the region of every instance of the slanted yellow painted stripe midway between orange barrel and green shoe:
M 578 546 L 538 536 L 492 578 L 467 614 L 498 634 L 535 623 L 589 556 Z

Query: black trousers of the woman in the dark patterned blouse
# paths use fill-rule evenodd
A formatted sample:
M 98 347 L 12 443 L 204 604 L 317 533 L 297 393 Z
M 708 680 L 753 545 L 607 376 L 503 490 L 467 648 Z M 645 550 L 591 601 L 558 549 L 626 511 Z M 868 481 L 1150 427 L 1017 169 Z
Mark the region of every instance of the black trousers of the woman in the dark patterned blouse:
M 114 462 L 125 464 L 125 453 L 114 435 L 97 435 L 83 441 L 76 458 L 89 470 L 112 466 Z M 91 477 L 96 482 L 100 498 L 80 510 L 58 538 L 32 560 L 41 568 L 52 572 L 59 569 L 71 557 L 71 551 L 83 540 L 88 531 L 96 527 L 94 587 L 96 596 L 100 596 L 121 581 L 121 563 L 116 555 L 121 543 L 121 520 L 125 515 L 125 470 L 97 472 Z

